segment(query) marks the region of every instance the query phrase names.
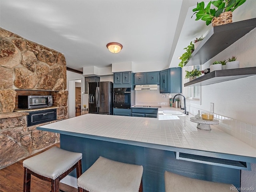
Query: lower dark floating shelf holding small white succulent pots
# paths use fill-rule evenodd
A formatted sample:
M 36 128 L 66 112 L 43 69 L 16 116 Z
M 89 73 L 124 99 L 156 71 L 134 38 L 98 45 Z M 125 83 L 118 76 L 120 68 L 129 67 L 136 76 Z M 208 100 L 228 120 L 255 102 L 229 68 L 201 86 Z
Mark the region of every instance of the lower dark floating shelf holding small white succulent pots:
M 256 75 L 256 67 L 217 70 L 185 83 L 184 87 L 210 85 L 254 75 Z

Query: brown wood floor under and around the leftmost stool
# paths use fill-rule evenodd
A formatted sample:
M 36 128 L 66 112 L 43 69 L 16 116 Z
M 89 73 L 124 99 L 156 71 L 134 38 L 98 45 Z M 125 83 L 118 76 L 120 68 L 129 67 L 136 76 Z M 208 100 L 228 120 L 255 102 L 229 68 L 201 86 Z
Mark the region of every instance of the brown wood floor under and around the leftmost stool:
M 60 144 L 54 144 L 53 146 L 60 146 Z M 49 148 L 51 148 L 49 147 Z M 45 150 L 49 149 L 46 148 Z M 45 151 L 42 150 L 41 152 Z M 39 152 L 40 153 L 40 152 Z M 37 153 L 38 154 L 38 153 Z M 36 154 L 34 154 L 36 155 Z M 32 156 L 34 156 L 32 155 Z M 30 156 L 31 157 L 31 156 Z M 29 158 L 29 157 L 28 157 Z M 26 158 L 25 158 L 26 159 Z M 23 192 L 23 176 L 24 168 L 22 159 L 6 168 L 0 170 L 0 192 Z M 66 184 L 60 183 L 60 190 L 64 192 L 77 192 L 77 189 Z M 50 192 L 51 183 L 40 180 L 35 176 L 31 176 L 31 190 L 30 192 Z

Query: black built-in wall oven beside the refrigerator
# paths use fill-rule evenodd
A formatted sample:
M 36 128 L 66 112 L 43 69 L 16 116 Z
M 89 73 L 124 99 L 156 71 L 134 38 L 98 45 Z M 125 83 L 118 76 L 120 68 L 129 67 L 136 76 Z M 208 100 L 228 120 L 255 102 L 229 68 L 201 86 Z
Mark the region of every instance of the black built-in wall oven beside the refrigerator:
M 114 108 L 130 109 L 131 102 L 131 88 L 114 88 Z

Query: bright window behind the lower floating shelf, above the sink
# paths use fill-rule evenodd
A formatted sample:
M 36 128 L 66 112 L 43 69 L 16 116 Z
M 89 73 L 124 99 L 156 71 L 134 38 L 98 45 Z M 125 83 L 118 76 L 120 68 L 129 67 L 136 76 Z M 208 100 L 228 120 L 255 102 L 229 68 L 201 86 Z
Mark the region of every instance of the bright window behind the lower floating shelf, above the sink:
M 201 68 L 200 65 L 184 67 L 184 76 L 186 74 L 185 71 L 192 71 L 194 69 L 201 70 L 200 68 Z M 184 82 L 185 83 L 189 82 L 189 79 L 185 79 Z M 200 92 L 201 92 L 200 86 L 184 87 L 184 94 L 185 94 L 186 98 L 189 100 L 200 101 L 200 97 L 201 97 Z

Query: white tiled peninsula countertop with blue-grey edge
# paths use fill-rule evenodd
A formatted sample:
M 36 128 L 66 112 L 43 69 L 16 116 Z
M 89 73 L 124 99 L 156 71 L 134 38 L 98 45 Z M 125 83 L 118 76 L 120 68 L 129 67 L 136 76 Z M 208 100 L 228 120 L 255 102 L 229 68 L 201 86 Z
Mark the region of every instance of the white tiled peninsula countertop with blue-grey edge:
M 174 110 L 162 107 L 161 110 Z M 176 109 L 180 110 L 180 109 Z M 183 110 L 180 110 L 183 111 Z M 39 130 L 102 140 L 118 139 L 133 145 L 170 147 L 204 152 L 216 152 L 256 158 L 256 148 L 211 125 L 212 130 L 200 130 L 190 121 L 192 115 L 177 120 L 157 118 L 86 114 L 38 127 Z

